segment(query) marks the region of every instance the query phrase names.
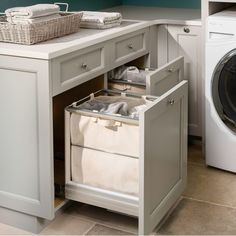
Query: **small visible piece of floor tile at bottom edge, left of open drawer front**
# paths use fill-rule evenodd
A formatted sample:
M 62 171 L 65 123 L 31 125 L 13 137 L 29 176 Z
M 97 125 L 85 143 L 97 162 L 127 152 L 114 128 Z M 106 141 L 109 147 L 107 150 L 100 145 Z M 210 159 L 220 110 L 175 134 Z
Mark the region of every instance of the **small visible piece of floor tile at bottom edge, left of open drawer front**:
M 104 225 L 96 224 L 86 235 L 132 235 L 132 234 L 122 230 L 117 230 Z

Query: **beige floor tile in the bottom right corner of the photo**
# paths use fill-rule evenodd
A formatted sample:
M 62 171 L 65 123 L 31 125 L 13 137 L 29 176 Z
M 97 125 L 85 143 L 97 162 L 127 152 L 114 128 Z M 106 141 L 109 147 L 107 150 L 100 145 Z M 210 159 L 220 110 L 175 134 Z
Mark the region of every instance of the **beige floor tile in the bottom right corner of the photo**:
M 183 199 L 158 234 L 235 235 L 236 210 Z

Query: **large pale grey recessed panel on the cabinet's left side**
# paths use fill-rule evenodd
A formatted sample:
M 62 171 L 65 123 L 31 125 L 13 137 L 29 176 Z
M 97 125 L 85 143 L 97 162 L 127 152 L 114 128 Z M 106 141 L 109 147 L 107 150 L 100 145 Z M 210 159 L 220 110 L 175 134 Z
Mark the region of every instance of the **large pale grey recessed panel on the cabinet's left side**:
M 54 216 L 48 62 L 0 57 L 0 207 Z

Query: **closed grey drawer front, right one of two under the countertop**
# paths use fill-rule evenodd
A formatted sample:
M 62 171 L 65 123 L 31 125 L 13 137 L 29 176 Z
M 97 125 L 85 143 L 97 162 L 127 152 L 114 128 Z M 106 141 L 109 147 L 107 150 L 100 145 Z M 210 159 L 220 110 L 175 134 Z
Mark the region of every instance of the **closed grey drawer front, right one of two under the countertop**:
M 128 62 L 148 52 L 147 47 L 148 31 L 143 30 L 138 33 L 129 34 L 129 37 L 120 37 L 114 42 L 116 64 Z

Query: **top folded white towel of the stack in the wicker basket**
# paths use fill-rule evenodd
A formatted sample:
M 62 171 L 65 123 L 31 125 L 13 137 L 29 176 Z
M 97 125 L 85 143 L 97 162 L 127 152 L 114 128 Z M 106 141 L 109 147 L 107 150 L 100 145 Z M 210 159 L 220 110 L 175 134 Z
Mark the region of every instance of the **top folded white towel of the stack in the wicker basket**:
M 36 4 L 28 7 L 14 7 L 5 11 L 7 17 L 32 19 L 59 13 L 60 7 L 55 4 Z

